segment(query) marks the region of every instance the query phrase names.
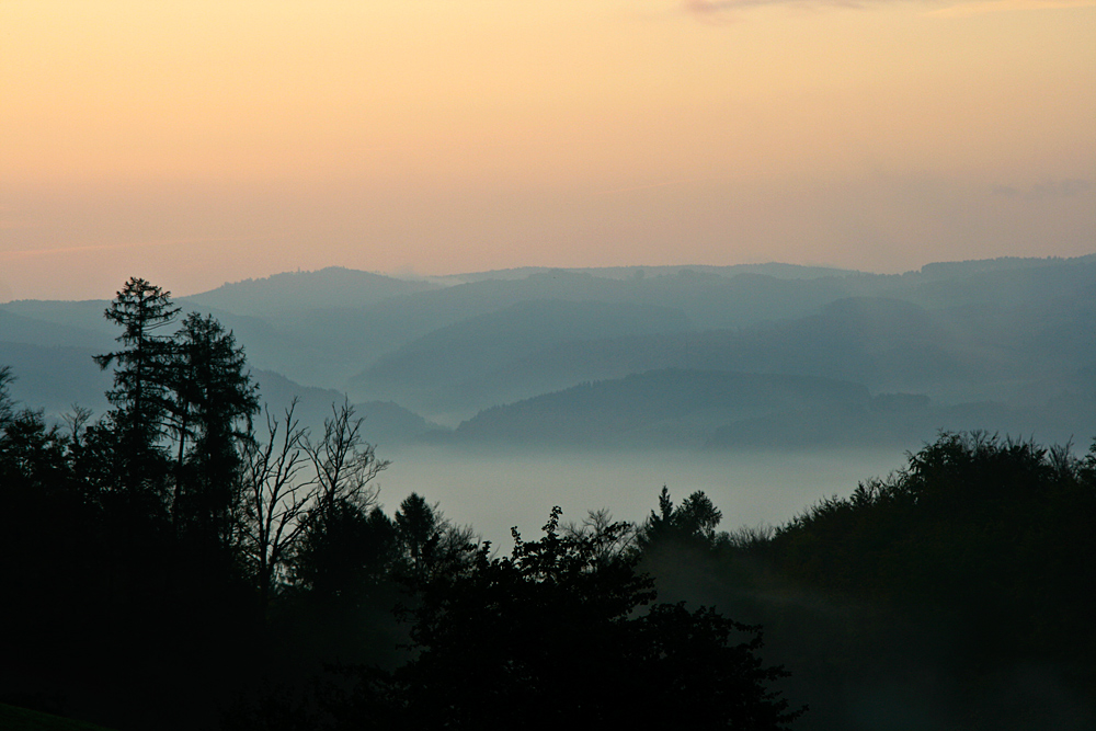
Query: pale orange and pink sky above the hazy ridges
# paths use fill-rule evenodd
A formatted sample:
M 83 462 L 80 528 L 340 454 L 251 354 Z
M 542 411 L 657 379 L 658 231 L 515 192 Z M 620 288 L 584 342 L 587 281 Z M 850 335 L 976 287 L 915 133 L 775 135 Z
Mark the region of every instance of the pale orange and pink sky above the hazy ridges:
M 2 0 L 0 301 L 1096 252 L 1096 0 Z

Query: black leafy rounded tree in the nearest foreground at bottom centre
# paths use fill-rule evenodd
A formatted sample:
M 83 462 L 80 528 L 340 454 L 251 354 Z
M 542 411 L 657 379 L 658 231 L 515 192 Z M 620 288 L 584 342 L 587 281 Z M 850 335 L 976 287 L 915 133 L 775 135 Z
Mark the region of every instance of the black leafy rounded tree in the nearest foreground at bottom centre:
M 756 651 L 760 629 L 712 609 L 654 599 L 635 559 L 606 555 L 624 524 L 592 535 L 514 532 L 511 557 L 475 551 L 471 568 L 421 587 L 412 648 L 395 674 L 407 728 L 783 729 L 799 712 L 769 689 L 781 677 Z

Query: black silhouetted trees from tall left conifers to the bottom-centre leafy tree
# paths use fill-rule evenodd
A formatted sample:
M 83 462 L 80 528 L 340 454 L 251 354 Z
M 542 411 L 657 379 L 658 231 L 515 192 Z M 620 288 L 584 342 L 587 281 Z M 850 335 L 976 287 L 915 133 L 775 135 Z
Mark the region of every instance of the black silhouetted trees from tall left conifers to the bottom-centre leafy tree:
M 651 604 L 632 527 L 556 511 L 498 557 L 418 494 L 389 516 L 349 404 L 315 434 L 261 412 L 232 333 L 178 316 L 118 293 L 96 421 L 47 424 L 0 369 L 0 703 L 117 729 L 798 716 L 758 628 Z

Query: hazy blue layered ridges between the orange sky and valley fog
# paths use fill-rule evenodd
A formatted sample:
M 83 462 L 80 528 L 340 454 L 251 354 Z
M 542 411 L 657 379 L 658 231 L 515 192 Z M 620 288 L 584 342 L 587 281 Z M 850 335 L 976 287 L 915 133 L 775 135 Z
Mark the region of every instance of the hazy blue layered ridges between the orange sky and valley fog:
M 914 446 L 939 427 L 1094 431 L 1096 255 L 901 275 L 769 264 L 404 281 L 329 269 L 178 301 L 232 330 L 275 408 L 297 393 L 318 418 L 347 393 L 386 443 Z M 15 397 L 50 414 L 103 408 L 89 356 L 111 345 L 105 305 L 0 305 Z M 827 401 L 823 384 L 856 396 Z

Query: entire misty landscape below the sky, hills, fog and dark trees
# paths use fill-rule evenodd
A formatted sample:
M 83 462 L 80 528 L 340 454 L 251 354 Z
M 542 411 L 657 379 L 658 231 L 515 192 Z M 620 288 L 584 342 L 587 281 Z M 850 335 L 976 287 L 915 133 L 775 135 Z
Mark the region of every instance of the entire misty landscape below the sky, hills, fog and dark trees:
M 119 287 L 0 305 L 0 727 L 1096 726 L 1096 255 Z

